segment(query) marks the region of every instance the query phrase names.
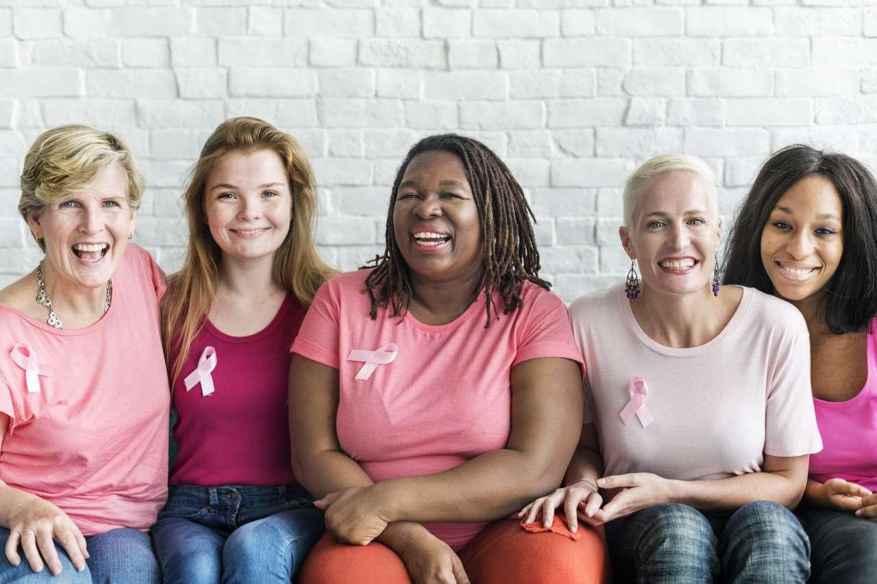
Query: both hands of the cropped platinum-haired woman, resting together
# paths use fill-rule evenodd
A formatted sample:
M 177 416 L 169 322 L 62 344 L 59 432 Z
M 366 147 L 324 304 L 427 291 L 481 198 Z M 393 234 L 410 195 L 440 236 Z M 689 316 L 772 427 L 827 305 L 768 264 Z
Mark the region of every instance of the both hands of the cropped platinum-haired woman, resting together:
M 578 530 L 578 520 L 591 525 L 608 523 L 645 509 L 650 505 L 672 502 L 670 481 L 652 473 L 616 474 L 597 481 L 599 488 L 616 491 L 610 502 L 603 504 L 602 495 L 587 481 L 575 482 L 556 489 L 551 495 L 539 497 L 521 509 L 517 516 L 526 516 L 532 523 L 542 516 L 545 527 L 552 524 L 554 509 L 563 508 L 570 531 Z

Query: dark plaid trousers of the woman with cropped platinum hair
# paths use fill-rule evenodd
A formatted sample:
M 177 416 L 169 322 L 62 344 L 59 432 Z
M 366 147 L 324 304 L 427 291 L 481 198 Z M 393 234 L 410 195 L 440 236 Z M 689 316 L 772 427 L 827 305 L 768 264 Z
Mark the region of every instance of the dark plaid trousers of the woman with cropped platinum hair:
M 791 511 L 769 501 L 733 513 L 652 505 L 606 524 L 616 582 L 800 583 L 809 576 L 807 534 Z

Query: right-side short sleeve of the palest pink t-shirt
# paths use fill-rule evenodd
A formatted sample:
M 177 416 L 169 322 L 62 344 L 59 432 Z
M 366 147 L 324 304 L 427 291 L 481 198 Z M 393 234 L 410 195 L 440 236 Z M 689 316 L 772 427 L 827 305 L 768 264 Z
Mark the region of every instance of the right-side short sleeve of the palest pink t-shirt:
M 797 311 L 794 316 L 770 357 L 764 452 L 771 456 L 813 454 L 823 446 L 810 389 L 807 327 Z

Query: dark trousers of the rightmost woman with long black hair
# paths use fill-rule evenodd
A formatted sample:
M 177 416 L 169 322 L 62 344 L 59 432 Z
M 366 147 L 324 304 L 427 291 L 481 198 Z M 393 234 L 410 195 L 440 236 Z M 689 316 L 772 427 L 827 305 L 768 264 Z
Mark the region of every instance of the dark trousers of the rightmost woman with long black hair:
M 804 505 L 795 513 L 813 548 L 810 582 L 870 584 L 877 578 L 877 523 L 849 511 Z

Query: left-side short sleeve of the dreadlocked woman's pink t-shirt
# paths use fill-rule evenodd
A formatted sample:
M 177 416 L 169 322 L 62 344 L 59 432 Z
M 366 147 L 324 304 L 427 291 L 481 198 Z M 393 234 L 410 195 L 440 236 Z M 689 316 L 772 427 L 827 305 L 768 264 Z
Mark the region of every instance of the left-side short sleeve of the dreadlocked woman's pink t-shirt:
M 289 348 L 305 359 L 339 368 L 340 297 L 338 281 L 327 281 L 317 290 L 298 336 Z

